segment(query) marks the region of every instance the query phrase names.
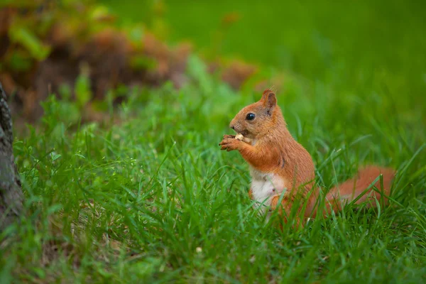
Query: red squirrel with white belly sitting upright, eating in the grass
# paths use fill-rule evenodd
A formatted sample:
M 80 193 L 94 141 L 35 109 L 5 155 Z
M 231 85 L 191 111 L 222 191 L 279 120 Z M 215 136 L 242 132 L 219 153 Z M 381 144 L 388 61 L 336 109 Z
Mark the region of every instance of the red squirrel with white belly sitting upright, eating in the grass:
M 301 204 L 305 204 L 305 212 L 302 215 L 299 213 L 302 209 L 300 205 L 297 209 L 296 224 L 302 224 L 302 218 L 315 218 L 318 213 L 315 204 L 320 198 L 319 190 L 313 185 L 315 166 L 311 155 L 288 131 L 275 93 L 271 89 L 266 89 L 258 102 L 244 107 L 236 114 L 229 127 L 234 129 L 237 136 L 224 135 L 219 146 L 221 150 L 239 151 L 249 163 L 251 174 L 249 197 L 264 205 L 261 212 L 266 213 L 266 208 L 269 208 L 269 215 L 278 208 L 280 216 L 283 216 L 284 210 L 283 221 L 288 222 L 296 197 L 301 197 Z M 380 168 L 375 165 L 362 168 L 356 177 L 337 185 L 325 195 L 324 216 L 331 211 L 342 210 L 346 202 L 352 202 L 357 198 L 355 204 L 365 202 L 368 197 L 378 200 L 383 198 L 387 204 L 395 173 L 392 168 Z M 383 196 L 370 187 L 379 175 L 383 175 L 383 178 L 376 181 L 374 186 L 384 193 Z M 371 189 L 367 190 L 369 187 Z M 280 202 L 280 195 L 284 190 Z M 362 195 L 363 193 L 365 194 Z M 374 201 L 369 203 L 376 205 Z

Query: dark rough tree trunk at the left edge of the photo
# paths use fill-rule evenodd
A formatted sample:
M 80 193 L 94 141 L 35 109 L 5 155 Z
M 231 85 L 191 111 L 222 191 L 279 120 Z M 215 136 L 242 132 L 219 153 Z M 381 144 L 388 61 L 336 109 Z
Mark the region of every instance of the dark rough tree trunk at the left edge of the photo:
M 13 157 L 11 111 L 0 83 L 0 231 L 18 219 L 22 203 L 21 181 Z

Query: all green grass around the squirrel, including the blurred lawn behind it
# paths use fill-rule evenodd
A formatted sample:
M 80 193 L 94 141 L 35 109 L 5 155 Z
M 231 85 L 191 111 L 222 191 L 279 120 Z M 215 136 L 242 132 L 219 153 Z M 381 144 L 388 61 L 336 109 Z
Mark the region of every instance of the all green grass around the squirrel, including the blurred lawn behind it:
M 231 91 L 192 58 L 182 89 L 129 91 L 119 124 L 80 125 L 77 104 L 51 99 L 41 124 L 16 138 L 28 212 L 0 234 L 1 283 L 425 282 L 420 1 L 168 1 L 164 18 L 146 3 L 104 2 L 122 23 L 189 38 L 207 58 L 258 62 L 259 77 L 285 70 L 278 104 L 318 186 L 388 165 L 398 169 L 393 201 L 300 231 L 265 224 L 244 160 L 217 145 L 260 94 Z M 229 11 L 241 20 L 225 30 Z

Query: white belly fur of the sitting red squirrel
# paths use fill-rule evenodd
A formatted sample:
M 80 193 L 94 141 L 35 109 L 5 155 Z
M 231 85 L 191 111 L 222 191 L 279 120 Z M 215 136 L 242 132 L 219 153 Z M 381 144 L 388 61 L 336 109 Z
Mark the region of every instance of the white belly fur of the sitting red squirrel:
M 271 197 L 280 195 L 285 188 L 285 180 L 273 173 L 262 173 L 254 168 L 250 168 L 251 174 L 251 193 L 253 200 L 263 204 L 264 212 L 271 205 Z

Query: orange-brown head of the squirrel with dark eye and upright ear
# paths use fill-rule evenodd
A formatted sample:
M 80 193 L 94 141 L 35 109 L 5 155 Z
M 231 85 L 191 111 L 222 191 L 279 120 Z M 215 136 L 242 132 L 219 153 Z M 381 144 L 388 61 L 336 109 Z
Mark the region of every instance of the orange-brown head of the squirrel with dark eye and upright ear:
M 260 101 L 241 109 L 229 127 L 246 138 L 257 138 L 271 131 L 282 117 L 277 98 L 271 89 L 266 89 Z

